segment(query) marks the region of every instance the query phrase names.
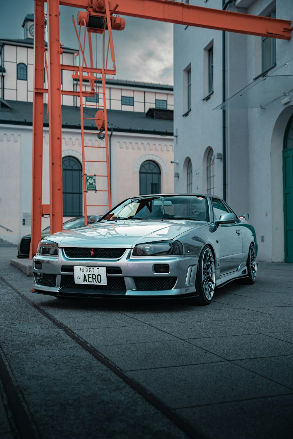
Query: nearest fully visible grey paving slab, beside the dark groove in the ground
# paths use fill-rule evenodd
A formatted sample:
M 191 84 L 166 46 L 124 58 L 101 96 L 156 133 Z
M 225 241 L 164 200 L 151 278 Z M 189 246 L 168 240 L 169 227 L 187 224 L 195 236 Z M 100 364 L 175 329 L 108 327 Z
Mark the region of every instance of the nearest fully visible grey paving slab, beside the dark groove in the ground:
M 172 409 L 290 393 L 287 387 L 229 361 L 129 374 Z

